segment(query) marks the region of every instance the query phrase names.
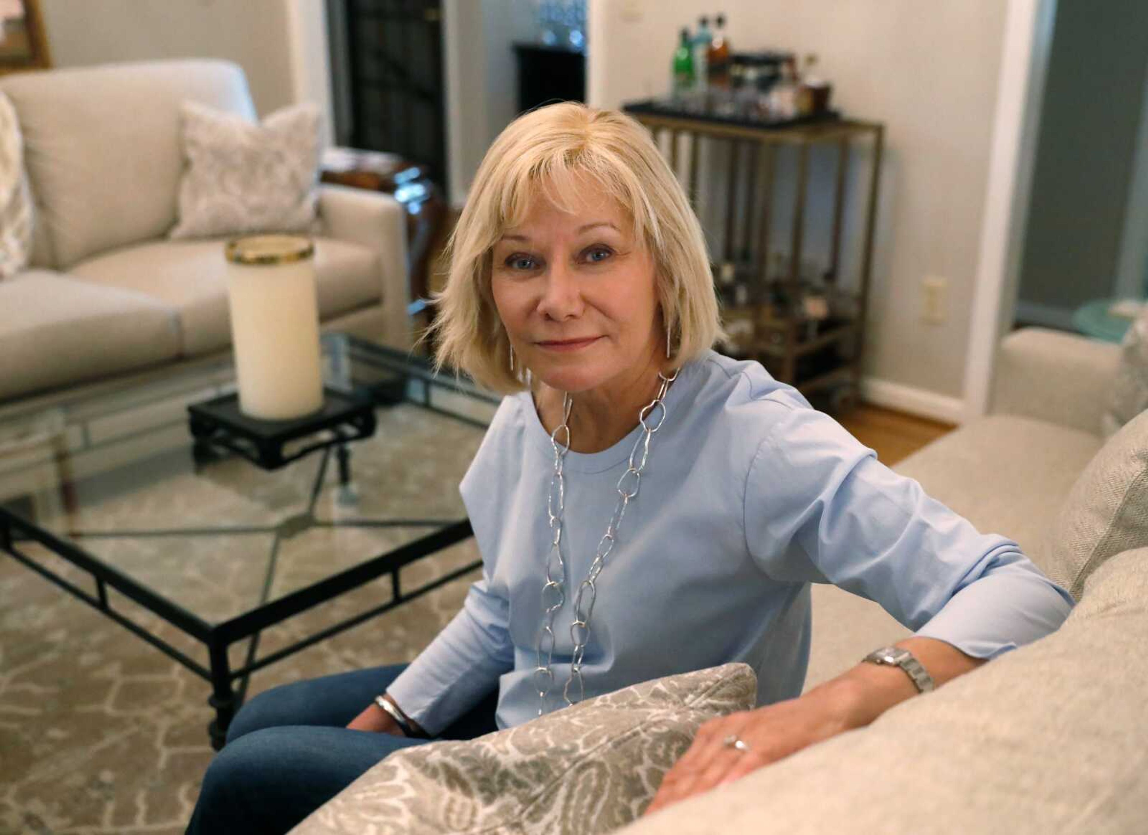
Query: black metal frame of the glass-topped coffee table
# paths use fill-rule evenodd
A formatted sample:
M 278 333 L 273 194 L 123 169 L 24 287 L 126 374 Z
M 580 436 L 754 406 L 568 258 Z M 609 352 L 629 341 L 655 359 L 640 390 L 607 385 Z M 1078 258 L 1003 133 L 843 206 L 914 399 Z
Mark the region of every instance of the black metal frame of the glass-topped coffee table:
M 419 377 L 424 382 L 422 401 L 406 400 L 405 403 L 413 403 L 414 405 L 421 406 L 422 408 L 432 412 L 448 414 L 455 420 L 472 423 L 483 429 L 486 428 L 486 424 L 479 420 L 459 415 L 453 412 L 447 412 L 445 409 L 441 409 L 432 405 L 432 384 L 445 385 L 445 388 L 457 387 L 449 383 L 444 384 L 442 381 L 435 380 L 434 375 L 430 374 L 427 368 L 409 366 L 404 368 L 403 372 L 413 377 Z M 319 468 L 319 474 L 317 475 L 317 484 L 323 483 L 323 470 L 326 468 L 329 453 L 329 448 L 323 451 L 324 459 Z M 311 507 L 313 507 L 316 498 L 317 497 L 312 494 Z M 308 515 L 309 514 L 310 509 L 308 510 Z M 209 681 L 211 684 L 211 696 L 208 699 L 208 704 L 215 709 L 216 717 L 209 724 L 208 732 L 211 738 L 212 748 L 219 750 L 223 748 L 227 727 L 231 724 L 235 711 L 238 711 L 243 703 L 247 694 L 247 685 L 253 672 L 256 672 L 257 670 L 261 670 L 277 661 L 281 661 L 289 655 L 294 655 L 295 653 L 325 640 L 326 638 L 331 638 L 332 635 L 356 626 L 364 621 L 375 617 L 377 615 L 389 611 L 402 603 L 410 602 L 411 600 L 427 594 L 428 592 L 432 592 L 435 588 L 439 588 L 440 586 L 443 586 L 447 583 L 458 579 L 470 571 L 473 571 L 482 564 L 481 560 L 473 561 L 406 592 L 403 590 L 400 582 L 400 570 L 404 565 L 425 556 L 429 556 L 430 554 L 468 538 L 472 536 L 471 523 L 470 520 L 466 518 L 450 522 L 445 525 L 443 525 L 442 521 L 436 520 L 390 520 L 378 524 L 402 526 L 426 525 L 439 528 L 439 530 L 395 548 L 386 554 L 380 554 L 379 556 L 366 560 L 357 565 L 340 571 L 339 573 L 332 575 L 331 577 L 319 580 L 310 586 L 267 601 L 266 595 L 270 591 L 271 580 L 274 575 L 274 555 L 278 548 L 279 534 L 282 534 L 285 532 L 284 529 L 290 528 L 293 524 L 298 524 L 298 517 L 288 518 L 284 523 L 280 523 L 280 525 L 267 529 L 269 532 L 276 532 L 277 538 L 274 545 L 272 546 L 272 556 L 267 564 L 261 604 L 243 612 L 242 615 L 215 625 L 194 615 L 184 607 L 173 603 L 147 586 L 135 582 L 122 571 L 107 565 L 76 545 L 48 533 L 47 531 L 40 530 L 34 524 L 20 518 L 14 513 L 7 510 L 3 506 L 0 506 L 0 551 L 8 553 L 13 559 L 23 563 L 94 609 L 101 611 L 107 617 L 135 633 L 169 657 L 186 666 L 200 678 Z M 339 523 L 331 522 L 326 524 L 338 525 Z M 254 531 L 255 529 L 251 530 Z M 174 532 L 184 533 L 185 531 Z M 56 556 L 63 557 L 72 565 L 76 565 L 91 575 L 95 583 L 95 594 L 92 594 L 75 585 L 70 580 L 54 573 L 34 559 L 23 553 L 20 548 L 20 543 L 24 540 L 39 543 Z M 267 626 L 282 623 L 287 618 L 305 611 L 313 606 L 333 600 L 344 592 L 358 588 L 359 586 L 388 573 L 390 575 L 391 583 L 391 599 L 386 603 L 327 626 L 308 638 L 278 649 L 262 658 L 255 658 L 255 653 L 258 647 L 258 637 L 262 630 Z M 130 600 L 139 603 L 148 611 L 158 615 L 161 618 L 176 626 L 185 634 L 201 641 L 208 649 L 208 666 L 203 666 L 203 664 L 188 657 L 185 653 L 171 646 L 163 639 L 149 633 L 127 616 L 116 611 L 108 600 L 109 586 Z M 228 648 L 232 643 L 248 638 L 251 639 L 251 643 L 248 648 L 247 662 L 238 670 L 232 670 L 231 661 L 228 658 Z M 233 686 L 236 680 L 239 680 L 238 688 Z

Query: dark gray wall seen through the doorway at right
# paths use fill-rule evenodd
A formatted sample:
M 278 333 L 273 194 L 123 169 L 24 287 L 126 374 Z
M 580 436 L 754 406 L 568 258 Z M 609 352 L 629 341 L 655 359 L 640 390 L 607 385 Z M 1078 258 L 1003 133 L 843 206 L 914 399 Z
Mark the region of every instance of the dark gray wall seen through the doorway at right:
M 1148 2 L 1057 3 L 1018 318 L 1070 326 L 1114 294 L 1146 70 Z

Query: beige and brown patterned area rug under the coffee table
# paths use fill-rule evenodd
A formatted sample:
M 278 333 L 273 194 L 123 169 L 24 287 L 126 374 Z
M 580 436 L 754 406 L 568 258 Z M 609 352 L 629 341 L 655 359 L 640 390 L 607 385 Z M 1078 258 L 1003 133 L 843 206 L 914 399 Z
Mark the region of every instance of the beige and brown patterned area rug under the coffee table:
M 443 443 L 444 428 L 436 426 L 440 421 L 432 416 L 424 418 L 418 426 L 404 422 L 403 427 L 390 427 L 393 431 L 416 435 L 437 434 L 439 446 L 429 454 L 411 456 L 416 463 L 408 470 L 398 470 L 401 478 L 391 482 L 401 485 L 397 492 L 408 497 L 412 491 L 425 491 L 427 500 L 420 507 L 439 510 L 427 513 L 428 516 L 461 507 L 457 498 L 458 478 L 482 436 L 481 430 L 472 429 L 464 437 L 459 430 L 458 437 Z M 358 484 L 378 483 L 371 479 L 373 467 L 390 476 L 396 474 L 394 461 L 367 451 L 356 453 L 354 467 Z M 394 494 L 395 490 L 390 495 Z M 378 502 L 381 495 L 381 491 L 374 494 L 360 491 L 360 502 Z M 447 498 L 440 502 L 439 495 Z M 104 521 L 122 514 L 122 504 L 109 498 Z M 436 504 L 443 507 L 436 508 Z M 363 509 L 359 507 L 355 513 Z M 327 508 L 320 506 L 316 516 L 321 517 L 324 512 L 340 510 L 334 504 Z M 85 513 L 88 514 L 85 526 L 91 529 L 100 514 L 93 515 L 90 509 Z M 146 516 L 146 508 L 135 506 L 132 515 L 138 520 L 141 513 Z M 389 509 L 383 508 L 382 513 L 389 515 Z M 386 545 L 387 537 L 400 534 L 397 529 L 305 531 L 280 548 L 278 591 L 296 588 L 315 576 L 329 573 L 333 553 L 356 552 L 347 547 L 347 537 L 370 537 L 370 541 L 359 545 L 371 547 Z M 211 546 L 208 543 L 204 547 Z M 248 559 L 236 543 L 215 546 L 236 562 Z M 183 585 L 180 602 L 193 606 L 196 595 L 205 595 L 199 607 L 193 606 L 200 611 L 208 612 L 212 606 L 233 611 L 233 595 L 243 585 L 228 580 L 225 585 L 231 588 L 224 590 L 218 582 L 204 583 L 202 561 L 181 567 L 160 549 L 149 553 L 138 540 L 104 539 L 100 547 L 114 549 L 121 561 L 150 561 L 147 569 L 169 575 L 169 584 L 174 577 L 176 585 Z M 92 588 L 87 575 L 57 557 L 29 544 L 22 545 L 22 549 L 76 585 Z M 403 587 L 414 588 L 476 559 L 478 549 L 473 540 L 467 540 L 404 569 Z M 121 565 L 126 568 L 123 562 Z M 137 570 L 144 569 L 137 567 Z M 458 611 L 470 583 L 478 577 L 475 570 L 256 672 L 248 697 L 302 678 L 412 660 Z M 116 593 L 109 596 L 113 606 L 137 624 L 207 664 L 207 654 L 200 645 Z M 265 631 L 259 639 L 259 655 L 389 599 L 389 578 L 382 577 Z M 232 647 L 233 669 L 243 663 L 246 651 L 246 641 Z M 214 717 L 207 703 L 209 695 L 207 681 L 0 554 L 0 833 L 183 833 L 212 757 L 207 733 Z

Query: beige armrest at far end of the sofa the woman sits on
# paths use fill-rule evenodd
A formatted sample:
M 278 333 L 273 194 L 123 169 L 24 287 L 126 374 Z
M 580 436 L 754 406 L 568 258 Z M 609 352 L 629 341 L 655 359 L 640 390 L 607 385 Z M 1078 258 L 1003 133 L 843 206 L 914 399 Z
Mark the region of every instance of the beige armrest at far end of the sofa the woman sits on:
M 1047 328 L 1022 328 L 1001 341 L 990 404 L 1015 414 L 1100 435 L 1120 348 Z

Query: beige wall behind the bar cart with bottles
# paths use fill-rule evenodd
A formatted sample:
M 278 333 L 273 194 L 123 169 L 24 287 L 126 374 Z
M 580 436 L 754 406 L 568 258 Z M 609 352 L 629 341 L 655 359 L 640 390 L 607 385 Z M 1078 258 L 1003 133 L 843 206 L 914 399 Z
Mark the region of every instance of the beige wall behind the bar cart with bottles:
M 866 374 L 961 398 L 1004 2 L 730 0 L 722 8 L 736 50 L 817 53 L 836 104 L 885 124 Z M 635 9 L 641 19 L 634 19 Z M 590 33 L 591 103 L 616 107 L 665 93 L 677 30 L 712 11 L 712 3 L 695 0 L 599 0 Z M 814 174 L 827 184 L 828 165 L 815 162 Z M 723 205 L 722 179 L 704 178 L 709 186 L 701 195 L 704 212 Z M 854 196 L 862 190 L 863 182 L 851 184 Z M 816 250 L 829 218 L 823 205 L 810 209 Z M 854 248 L 858 232 L 846 228 Z M 928 275 L 949 282 L 943 325 L 921 320 Z

